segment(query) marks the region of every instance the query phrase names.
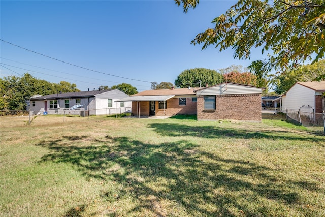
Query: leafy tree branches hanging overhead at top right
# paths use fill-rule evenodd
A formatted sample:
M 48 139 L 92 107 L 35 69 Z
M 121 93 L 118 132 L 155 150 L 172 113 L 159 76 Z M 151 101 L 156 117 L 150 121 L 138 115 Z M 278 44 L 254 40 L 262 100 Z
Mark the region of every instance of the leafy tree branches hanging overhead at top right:
M 175 2 L 185 13 L 199 4 L 199 0 Z M 262 48 L 267 57 L 249 66 L 259 78 L 324 57 L 325 0 L 239 0 L 212 23 L 214 28 L 199 33 L 191 43 L 202 44 L 202 49 L 210 45 L 219 51 L 232 48 L 239 59 L 249 59 L 252 48 Z M 316 80 L 321 79 L 325 74 Z

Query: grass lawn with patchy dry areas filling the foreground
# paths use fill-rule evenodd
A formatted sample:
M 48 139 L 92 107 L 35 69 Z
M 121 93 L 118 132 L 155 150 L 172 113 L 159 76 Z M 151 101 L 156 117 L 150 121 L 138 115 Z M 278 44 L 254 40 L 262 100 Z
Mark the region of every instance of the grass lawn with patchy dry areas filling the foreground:
M 325 137 L 262 123 L 0 117 L 0 216 L 325 216 Z

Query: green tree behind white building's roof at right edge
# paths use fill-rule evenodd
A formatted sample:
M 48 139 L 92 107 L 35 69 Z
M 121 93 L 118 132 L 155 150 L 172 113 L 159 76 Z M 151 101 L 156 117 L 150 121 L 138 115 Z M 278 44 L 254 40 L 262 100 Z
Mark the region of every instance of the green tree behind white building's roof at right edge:
M 325 60 L 319 60 L 315 64 L 300 66 L 296 70 L 291 70 L 285 75 L 277 78 L 275 92 L 283 94 L 288 91 L 298 81 L 313 81 L 325 72 Z M 325 79 L 323 79 L 325 80 Z

